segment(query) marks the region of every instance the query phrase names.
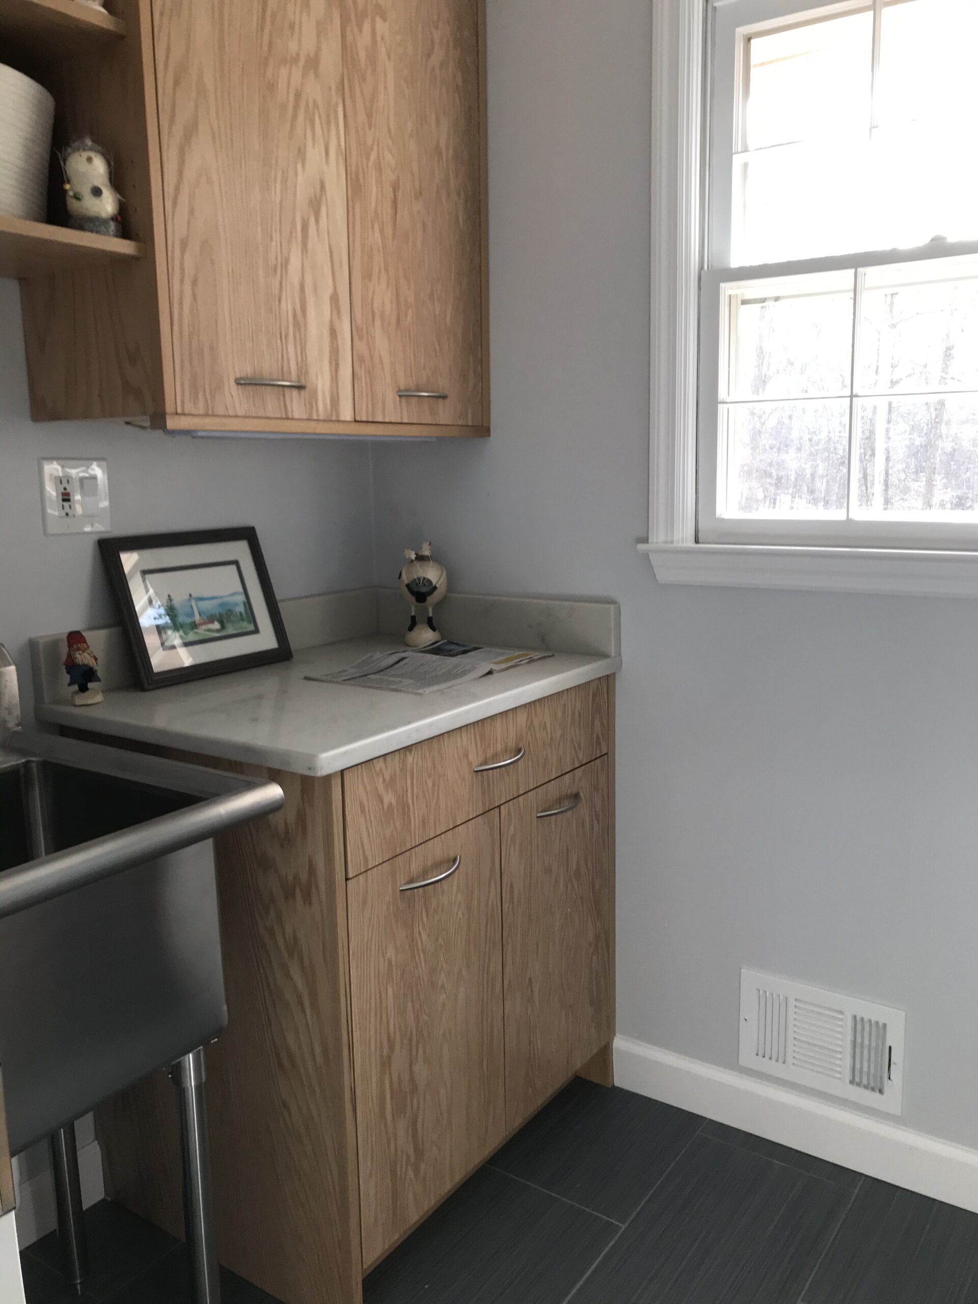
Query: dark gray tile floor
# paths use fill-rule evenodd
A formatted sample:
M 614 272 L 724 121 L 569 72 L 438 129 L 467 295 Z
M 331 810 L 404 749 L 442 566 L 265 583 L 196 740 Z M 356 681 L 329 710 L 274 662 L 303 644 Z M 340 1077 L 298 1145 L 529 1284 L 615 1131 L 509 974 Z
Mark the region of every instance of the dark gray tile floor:
M 183 1248 L 89 1210 L 82 1304 L 186 1304 Z M 27 1304 L 78 1300 L 46 1237 Z M 224 1304 L 275 1304 L 232 1274 Z M 978 1304 L 978 1217 L 575 1081 L 364 1282 L 365 1304 Z

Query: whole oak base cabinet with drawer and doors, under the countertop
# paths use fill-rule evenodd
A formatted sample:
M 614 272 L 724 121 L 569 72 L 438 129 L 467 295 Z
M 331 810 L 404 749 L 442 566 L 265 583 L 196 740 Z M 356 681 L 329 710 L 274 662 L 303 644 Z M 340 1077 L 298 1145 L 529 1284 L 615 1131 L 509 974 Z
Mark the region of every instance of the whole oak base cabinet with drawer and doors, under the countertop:
M 343 777 L 246 769 L 286 806 L 216 841 L 207 1106 L 220 1260 L 274 1299 L 360 1304 L 574 1073 L 608 1078 L 613 707 L 597 681 Z M 180 1235 L 172 1097 L 156 1074 L 98 1127 L 112 1198 Z

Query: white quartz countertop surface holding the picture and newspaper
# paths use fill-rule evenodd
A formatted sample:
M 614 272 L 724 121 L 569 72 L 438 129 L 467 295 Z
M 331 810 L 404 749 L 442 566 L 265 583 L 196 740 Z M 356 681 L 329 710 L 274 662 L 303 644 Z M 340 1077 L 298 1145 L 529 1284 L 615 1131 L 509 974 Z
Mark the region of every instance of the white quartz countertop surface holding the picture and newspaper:
M 614 674 L 621 657 L 558 652 L 545 661 L 424 695 L 312 683 L 366 652 L 403 647 L 372 635 L 296 652 L 280 665 L 142 692 L 116 689 L 95 707 L 38 703 L 48 724 L 181 747 L 299 775 L 331 775 L 527 702 Z

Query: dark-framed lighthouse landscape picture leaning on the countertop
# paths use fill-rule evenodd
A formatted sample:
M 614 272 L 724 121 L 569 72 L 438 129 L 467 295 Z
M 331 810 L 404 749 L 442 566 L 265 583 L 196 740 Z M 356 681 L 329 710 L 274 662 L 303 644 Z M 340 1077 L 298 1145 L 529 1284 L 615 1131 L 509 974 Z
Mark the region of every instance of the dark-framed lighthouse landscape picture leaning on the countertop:
M 99 540 L 143 689 L 288 661 L 252 526 Z

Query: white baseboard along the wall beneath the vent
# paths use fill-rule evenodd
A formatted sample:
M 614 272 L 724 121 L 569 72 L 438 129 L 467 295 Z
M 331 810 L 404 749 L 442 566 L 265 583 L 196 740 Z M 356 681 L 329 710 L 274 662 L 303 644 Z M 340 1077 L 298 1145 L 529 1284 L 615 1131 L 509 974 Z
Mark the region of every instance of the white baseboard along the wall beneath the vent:
M 631 1037 L 614 1039 L 614 1081 L 655 1101 L 978 1213 L 978 1150 Z

